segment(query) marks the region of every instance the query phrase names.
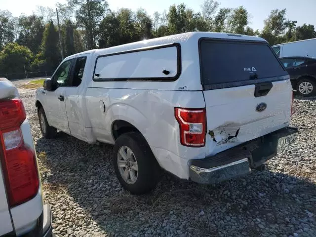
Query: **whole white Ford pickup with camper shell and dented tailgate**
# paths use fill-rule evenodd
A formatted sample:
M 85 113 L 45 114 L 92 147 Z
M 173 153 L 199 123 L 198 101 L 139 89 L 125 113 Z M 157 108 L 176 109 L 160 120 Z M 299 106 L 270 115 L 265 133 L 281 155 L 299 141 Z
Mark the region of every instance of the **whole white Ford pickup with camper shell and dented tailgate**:
M 40 128 L 114 144 L 119 182 L 151 191 L 160 167 L 215 183 L 290 145 L 292 86 L 267 41 L 193 32 L 63 60 L 36 93 Z

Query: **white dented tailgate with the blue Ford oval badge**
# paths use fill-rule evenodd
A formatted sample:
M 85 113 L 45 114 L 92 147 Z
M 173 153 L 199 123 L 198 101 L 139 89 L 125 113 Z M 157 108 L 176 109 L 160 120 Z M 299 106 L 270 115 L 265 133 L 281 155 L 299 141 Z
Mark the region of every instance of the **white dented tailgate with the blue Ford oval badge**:
M 289 125 L 292 97 L 290 80 L 272 83 L 269 93 L 261 97 L 254 96 L 254 85 L 203 91 L 208 131 L 207 155 Z M 267 104 L 262 112 L 256 111 L 259 103 Z

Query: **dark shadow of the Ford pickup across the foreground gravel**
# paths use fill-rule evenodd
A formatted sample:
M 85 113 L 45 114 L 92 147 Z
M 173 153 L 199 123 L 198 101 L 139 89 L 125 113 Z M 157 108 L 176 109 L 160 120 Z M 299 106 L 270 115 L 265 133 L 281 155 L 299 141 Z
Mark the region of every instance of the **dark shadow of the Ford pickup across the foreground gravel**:
M 118 183 L 112 146 L 91 146 L 60 134 L 58 139 L 40 138 L 36 149 L 47 169 L 41 170 L 44 191 L 55 189 L 65 198 L 63 204 L 50 203 L 53 217 L 63 219 L 53 223 L 72 222 L 79 230 L 75 236 L 89 236 L 86 230 L 94 222 L 98 233 L 107 236 L 271 236 L 269 229 L 279 236 L 308 226 L 307 233 L 316 230 L 316 184 L 305 179 L 268 169 L 217 185 L 198 185 L 164 173 L 151 194 L 133 196 Z M 62 205 L 74 205 L 71 215 L 76 221 L 59 212 Z

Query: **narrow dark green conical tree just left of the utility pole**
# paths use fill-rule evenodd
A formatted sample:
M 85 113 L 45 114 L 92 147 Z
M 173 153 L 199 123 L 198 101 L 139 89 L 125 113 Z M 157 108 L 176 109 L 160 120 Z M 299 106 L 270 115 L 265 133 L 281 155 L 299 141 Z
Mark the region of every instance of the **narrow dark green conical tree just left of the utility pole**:
M 41 44 L 41 53 L 37 57 L 39 60 L 45 60 L 45 71 L 55 70 L 61 61 L 59 35 L 52 21 L 46 25 Z

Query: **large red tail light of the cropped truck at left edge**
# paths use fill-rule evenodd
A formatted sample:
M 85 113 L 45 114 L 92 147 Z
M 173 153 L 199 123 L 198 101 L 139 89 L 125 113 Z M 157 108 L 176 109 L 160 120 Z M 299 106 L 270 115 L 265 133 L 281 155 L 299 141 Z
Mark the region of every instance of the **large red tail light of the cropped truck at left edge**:
M 33 198 L 40 186 L 35 153 L 20 130 L 25 119 L 20 99 L 0 102 L 0 157 L 10 207 Z

